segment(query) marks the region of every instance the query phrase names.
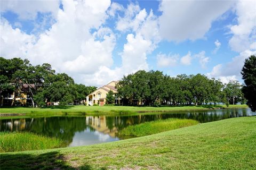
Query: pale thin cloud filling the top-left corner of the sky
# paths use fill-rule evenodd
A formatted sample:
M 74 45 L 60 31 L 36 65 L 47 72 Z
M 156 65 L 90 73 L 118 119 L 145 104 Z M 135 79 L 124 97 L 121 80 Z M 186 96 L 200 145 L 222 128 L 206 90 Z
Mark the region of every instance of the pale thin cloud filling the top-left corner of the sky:
M 20 19 L 34 20 L 38 14 L 51 13 L 57 16 L 60 1 L 0 1 L 1 12 L 12 11 Z

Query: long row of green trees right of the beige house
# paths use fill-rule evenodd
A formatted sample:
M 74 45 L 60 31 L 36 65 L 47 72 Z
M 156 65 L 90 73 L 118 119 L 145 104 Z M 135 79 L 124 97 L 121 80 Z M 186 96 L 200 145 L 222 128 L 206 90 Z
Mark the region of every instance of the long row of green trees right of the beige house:
M 205 75 L 181 74 L 173 78 L 161 71 L 140 70 L 124 76 L 117 84 L 124 105 L 244 104 L 242 84 L 209 79 Z

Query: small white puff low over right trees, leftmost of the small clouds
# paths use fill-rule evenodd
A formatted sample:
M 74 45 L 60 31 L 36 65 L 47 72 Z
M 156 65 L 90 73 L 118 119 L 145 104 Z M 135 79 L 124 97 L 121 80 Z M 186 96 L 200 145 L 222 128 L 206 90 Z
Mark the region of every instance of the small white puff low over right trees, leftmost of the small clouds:
M 179 60 L 179 54 L 166 55 L 166 54 L 157 54 L 157 66 L 158 67 L 168 67 L 175 66 Z

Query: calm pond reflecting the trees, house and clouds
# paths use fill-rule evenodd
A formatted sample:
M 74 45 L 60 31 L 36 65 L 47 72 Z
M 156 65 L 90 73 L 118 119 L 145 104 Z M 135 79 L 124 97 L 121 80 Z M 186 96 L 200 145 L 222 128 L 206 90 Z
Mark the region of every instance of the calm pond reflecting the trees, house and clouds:
M 66 147 L 121 140 L 118 131 L 126 126 L 166 118 L 188 118 L 201 123 L 225 118 L 255 116 L 249 108 L 189 112 L 155 112 L 121 116 L 58 116 L 0 120 L 0 131 L 29 131 L 65 141 Z

